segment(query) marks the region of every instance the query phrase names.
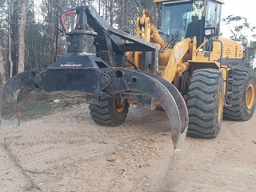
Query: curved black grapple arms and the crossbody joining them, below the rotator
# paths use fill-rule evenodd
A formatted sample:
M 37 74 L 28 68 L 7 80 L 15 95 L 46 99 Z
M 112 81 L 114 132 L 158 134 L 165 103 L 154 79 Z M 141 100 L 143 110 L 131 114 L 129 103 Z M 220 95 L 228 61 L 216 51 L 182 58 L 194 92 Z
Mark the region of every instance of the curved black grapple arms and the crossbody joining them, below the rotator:
M 4 120 L 2 119 L 2 103 L 17 90 L 20 90 L 17 98 L 17 114 L 10 120 Z M 154 74 L 122 67 L 27 70 L 10 78 L 2 87 L 0 129 L 19 125 L 22 102 L 32 90 L 45 90 L 46 92 L 74 90 L 90 95 L 101 95 L 103 92 L 113 95 L 122 91 L 138 91 L 154 98 L 166 111 L 175 150 L 186 137 L 188 114 L 181 94 L 172 84 Z

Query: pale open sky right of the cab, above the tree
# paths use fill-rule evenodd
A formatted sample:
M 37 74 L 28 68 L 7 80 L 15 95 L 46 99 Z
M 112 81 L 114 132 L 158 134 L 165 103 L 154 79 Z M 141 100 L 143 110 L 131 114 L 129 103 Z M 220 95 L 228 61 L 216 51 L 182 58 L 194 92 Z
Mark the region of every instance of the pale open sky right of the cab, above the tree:
M 224 0 L 222 5 L 222 18 L 229 15 L 242 16 L 248 19 L 251 26 L 256 26 L 255 0 Z M 223 23 L 222 23 L 223 24 Z M 228 29 L 222 25 L 221 29 L 225 38 L 230 38 Z

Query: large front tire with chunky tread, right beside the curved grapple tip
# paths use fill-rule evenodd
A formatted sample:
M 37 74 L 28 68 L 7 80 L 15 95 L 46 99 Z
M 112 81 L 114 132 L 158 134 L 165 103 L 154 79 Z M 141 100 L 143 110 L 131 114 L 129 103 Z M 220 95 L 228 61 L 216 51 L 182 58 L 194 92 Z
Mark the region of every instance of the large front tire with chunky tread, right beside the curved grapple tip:
M 186 106 L 187 134 L 195 138 L 216 138 L 222 127 L 223 78 L 220 70 L 195 70 L 190 80 Z

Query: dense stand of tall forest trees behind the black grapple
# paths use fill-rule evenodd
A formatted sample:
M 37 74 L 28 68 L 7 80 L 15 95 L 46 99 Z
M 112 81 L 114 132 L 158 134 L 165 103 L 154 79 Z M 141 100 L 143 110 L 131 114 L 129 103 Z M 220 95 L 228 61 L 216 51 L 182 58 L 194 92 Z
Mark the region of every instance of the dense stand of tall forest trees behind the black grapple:
M 23 70 L 46 68 L 66 55 L 66 38 L 55 29 L 55 18 L 65 10 L 89 4 L 110 26 L 131 34 L 136 34 L 136 19 L 143 9 L 155 21 L 160 13 L 152 0 L 0 0 L 2 82 Z M 70 30 L 74 29 L 74 22 L 74 18 L 66 18 Z

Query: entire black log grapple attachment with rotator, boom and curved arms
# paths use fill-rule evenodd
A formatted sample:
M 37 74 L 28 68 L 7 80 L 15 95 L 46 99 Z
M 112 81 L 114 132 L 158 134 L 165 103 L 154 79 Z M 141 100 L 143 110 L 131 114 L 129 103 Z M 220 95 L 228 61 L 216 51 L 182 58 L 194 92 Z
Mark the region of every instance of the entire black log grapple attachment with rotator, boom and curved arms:
M 114 30 L 97 14 L 92 6 L 78 6 L 75 12 L 78 23 L 74 31 L 66 34 L 68 56 L 54 62 L 47 69 L 26 70 L 10 78 L 0 92 L 1 129 L 19 125 L 20 109 L 27 94 L 32 90 L 81 91 L 86 98 L 122 97 L 120 95 L 148 95 L 159 102 L 170 120 L 170 132 L 174 149 L 186 137 L 188 114 L 186 104 L 178 90 L 165 79 L 156 75 L 158 46 Z M 94 31 L 89 31 L 89 25 Z M 132 43 L 124 43 L 129 40 Z M 146 58 L 142 70 L 126 68 L 126 51 L 144 51 Z M 96 57 L 101 51 L 108 51 L 109 62 Z M 151 68 L 150 73 L 146 70 Z M 16 115 L 10 120 L 2 119 L 2 103 L 15 91 L 17 98 Z M 134 96 L 135 97 L 135 96 Z M 89 99 L 89 102 L 94 99 Z M 94 100 L 94 102 L 97 99 Z M 87 100 L 88 102 L 88 100 Z M 95 103 L 93 103 L 95 104 Z

